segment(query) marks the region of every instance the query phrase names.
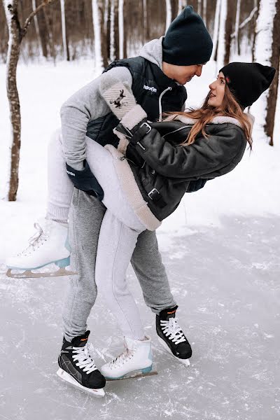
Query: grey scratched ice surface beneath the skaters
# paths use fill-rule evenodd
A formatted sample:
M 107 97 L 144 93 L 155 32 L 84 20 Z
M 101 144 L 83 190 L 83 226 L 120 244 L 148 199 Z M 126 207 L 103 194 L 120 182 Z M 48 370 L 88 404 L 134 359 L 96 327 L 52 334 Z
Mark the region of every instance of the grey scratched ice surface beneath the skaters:
M 162 351 L 130 269 L 158 375 L 108 382 L 103 399 L 56 375 L 67 278 L 1 274 L 0 419 L 278 420 L 279 233 L 280 218 L 224 217 L 221 228 L 169 237 L 162 255 L 193 346 L 190 367 Z M 99 366 L 122 346 L 100 296 L 88 328 Z

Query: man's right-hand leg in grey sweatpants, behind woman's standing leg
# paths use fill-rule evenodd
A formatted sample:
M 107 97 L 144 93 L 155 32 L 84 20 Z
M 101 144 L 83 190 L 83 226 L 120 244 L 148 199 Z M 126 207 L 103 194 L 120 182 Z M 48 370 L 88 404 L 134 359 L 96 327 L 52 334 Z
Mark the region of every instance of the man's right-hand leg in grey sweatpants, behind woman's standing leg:
M 155 232 L 144 230 L 132 255 L 132 267 L 143 291 L 144 300 L 155 314 L 176 306 L 162 257 L 158 251 Z

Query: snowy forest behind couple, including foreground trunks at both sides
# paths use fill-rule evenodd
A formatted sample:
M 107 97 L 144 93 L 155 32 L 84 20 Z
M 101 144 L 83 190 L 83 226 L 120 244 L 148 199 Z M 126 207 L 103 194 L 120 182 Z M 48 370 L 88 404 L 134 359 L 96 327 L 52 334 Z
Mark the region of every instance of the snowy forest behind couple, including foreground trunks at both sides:
M 95 69 L 137 55 L 149 39 L 165 34 L 188 2 L 183 0 L 56 1 L 3 0 L 0 6 L 0 58 L 7 62 L 7 92 L 13 130 L 8 200 L 16 200 L 20 159 L 20 111 L 16 87 L 18 60 L 75 61 L 92 57 Z M 137 7 L 136 7 L 137 4 Z M 162 7 L 163 6 L 163 7 Z M 214 41 L 216 67 L 246 54 L 276 68 L 265 104 L 265 134 L 273 146 L 279 84 L 280 1 L 193 1 Z M 273 18 L 272 18 L 273 17 Z M 10 31 L 8 30 L 10 25 Z M 9 38 L 10 32 L 10 38 Z M 10 41 L 9 41 L 10 40 Z M 262 48 L 265 41 L 267 47 Z M 10 59 L 7 60 L 8 43 Z

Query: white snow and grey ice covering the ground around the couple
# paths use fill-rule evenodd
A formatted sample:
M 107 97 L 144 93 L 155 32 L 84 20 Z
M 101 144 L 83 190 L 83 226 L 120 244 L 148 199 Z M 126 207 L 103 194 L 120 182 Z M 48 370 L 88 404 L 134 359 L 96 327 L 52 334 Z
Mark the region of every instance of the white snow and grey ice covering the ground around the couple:
M 230 174 L 186 195 L 158 230 L 172 290 L 194 356 L 186 369 L 162 353 L 154 316 L 146 309 L 130 270 L 134 295 L 154 342 L 157 377 L 106 386 L 106 400 L 92 400 L 55 375 L 61 344 L 60 315 L 67 279 L 10 280 L 3 261 L 26 244 L 45 212 L 46 148 L 59 126 L 59 107 L 94 77 L 90 60 L 20 64 L 22 149 L 18 201 L 0 200 L 0 419 L 276 420 L 280 415 L 279 248 L 280 118 L 274 148 L 258 125 L 253 152 Z M 8 170 L 9 120 L 5 67 L 0 65 L 0 198 Z M 216 76 L 207 64 L 188 83 L 197 106 Z M 278 106 L 278 116 L 280 110 Z M 100 314 L 104 314 L 100 315 Z M 97 363 L 120 339 L 99 297 L 89 322 Z M 125 414 L 124 414 L 125 413 Z

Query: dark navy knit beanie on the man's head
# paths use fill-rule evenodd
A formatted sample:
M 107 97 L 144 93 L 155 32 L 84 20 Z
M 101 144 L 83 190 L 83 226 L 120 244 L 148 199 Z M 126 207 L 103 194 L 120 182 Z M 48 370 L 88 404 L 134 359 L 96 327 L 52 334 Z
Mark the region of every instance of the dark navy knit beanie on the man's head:
M 192 66 L 209 61 L 213 43 L 202 18 L 192 6 L 172 22 L 162 41 L 162 61 L 176 66 Z

